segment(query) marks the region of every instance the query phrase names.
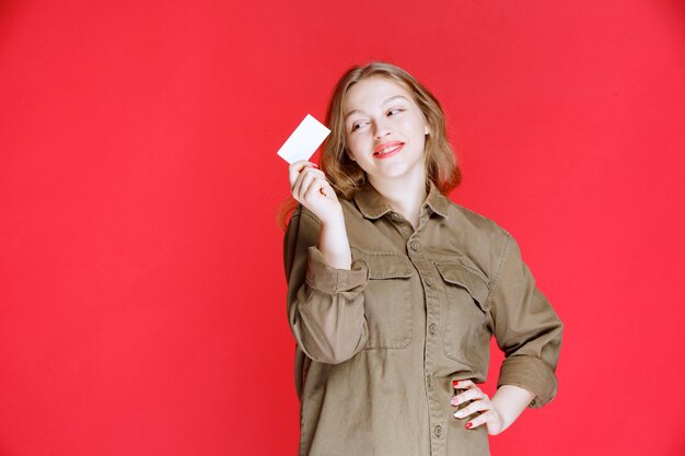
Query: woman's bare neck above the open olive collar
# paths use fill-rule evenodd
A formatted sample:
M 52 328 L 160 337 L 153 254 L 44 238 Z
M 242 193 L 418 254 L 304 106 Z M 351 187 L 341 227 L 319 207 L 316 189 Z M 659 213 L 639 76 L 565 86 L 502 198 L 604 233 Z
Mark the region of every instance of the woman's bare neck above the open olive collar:
M 402 214 L 416 230 L 419 226 L 421 204 L 426 200 L 426 177 L 415 179 L 375 180 L 369 176 L 375 190 L 390 203 L 395 212 Z

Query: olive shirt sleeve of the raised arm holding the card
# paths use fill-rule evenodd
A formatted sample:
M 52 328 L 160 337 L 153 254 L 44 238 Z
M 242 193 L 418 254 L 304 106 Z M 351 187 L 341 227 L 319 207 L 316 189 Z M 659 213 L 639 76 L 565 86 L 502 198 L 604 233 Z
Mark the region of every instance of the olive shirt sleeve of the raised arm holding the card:
M 363 294 L 369 270 L 329 267 L 318 244 L 321 223 L 300 207 L 283 239 L 288 318 L 300 349 L 313 361 L 338 364 L 361 351 L 368 339 Z

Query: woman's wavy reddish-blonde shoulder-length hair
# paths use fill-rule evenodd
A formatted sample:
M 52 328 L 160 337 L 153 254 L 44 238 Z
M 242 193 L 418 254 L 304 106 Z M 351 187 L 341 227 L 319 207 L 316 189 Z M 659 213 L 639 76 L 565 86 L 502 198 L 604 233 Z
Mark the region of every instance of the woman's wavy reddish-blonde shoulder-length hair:
M 351 199 L 363 187 L 367 175 L 359 165 L 350 160 L 345 139 L 345 95 L 357 82 L 368 78 L 385 78 L 405 89 L 423 113 L 430 127 L 426 136 L 425 160 L 428 178 L 436 184 L 443 195 L 450 194 L 462 180 L 462 174 L 448 141 L 444 112 L 438 100 L 411 74 L 399 67 L 383 61 L 372 61 L 363 67 L 350 68 L 336 84 L 326 125 L 330 135 L 324 141 L 321 154 L 321 169 L 338 196 Z M 286 229 L 290 213 L 298 202 L 290 197 L 279 209 L 279 225 Z

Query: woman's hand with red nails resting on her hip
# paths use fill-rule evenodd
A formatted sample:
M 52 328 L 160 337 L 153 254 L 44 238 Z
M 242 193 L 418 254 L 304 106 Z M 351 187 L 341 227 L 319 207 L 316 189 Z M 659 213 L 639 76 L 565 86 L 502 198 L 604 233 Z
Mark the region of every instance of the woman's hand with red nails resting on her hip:
M 466 389 L 452 397 L 452 407 L 457 407 L 462 404 L 471 401 L 466 407 L 458 409 L 455 413 L 455 418 L 465 418 L 472 413 L 480 412 L 476 418 L 468 421 L 465 425 L 466 429 L 475 429 L 484 424 L 488 429 L 488 434 L 496 435 L 502 432 L 504 428 L 504 420 L 501 413 L 497 410 L 495 405 L 490 401 L 488 395 L 472 381 L 463 379 L 458 383 L 454 383 L 454 388 Z

